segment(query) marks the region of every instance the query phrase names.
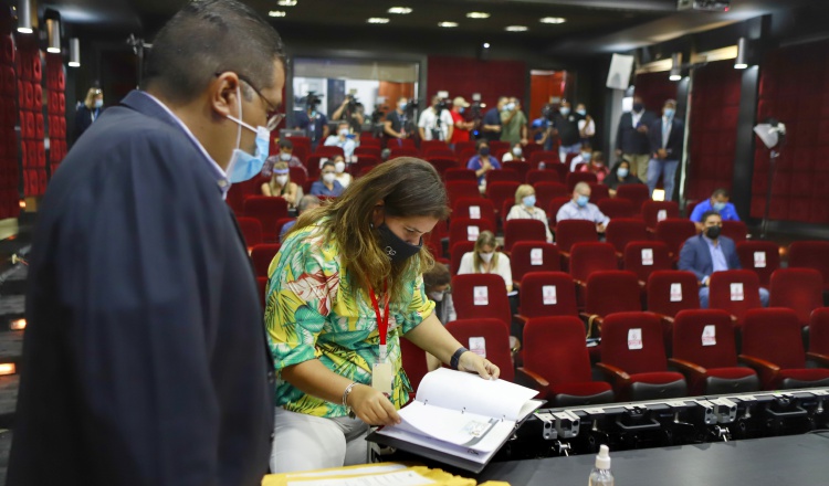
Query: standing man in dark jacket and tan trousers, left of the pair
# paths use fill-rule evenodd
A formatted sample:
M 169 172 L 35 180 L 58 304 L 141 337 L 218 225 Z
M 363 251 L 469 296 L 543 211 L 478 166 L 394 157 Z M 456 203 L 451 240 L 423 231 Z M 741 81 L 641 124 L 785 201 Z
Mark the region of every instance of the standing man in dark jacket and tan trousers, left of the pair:
M 641 96 L 633 96 L 633 109 L 622 114 L 616 131 L 616 156 L 630 162 L 630 172 L 640 178 L 648 177 L 651 158 L 648 127 L 655 119 L 653 112 L 644 109 Z

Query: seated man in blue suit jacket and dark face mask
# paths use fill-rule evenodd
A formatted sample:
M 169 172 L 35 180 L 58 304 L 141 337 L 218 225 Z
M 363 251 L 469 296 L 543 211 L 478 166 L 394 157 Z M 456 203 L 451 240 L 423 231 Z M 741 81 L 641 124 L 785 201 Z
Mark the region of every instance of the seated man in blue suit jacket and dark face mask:
M 721 236 L 723 218 L 716 211 L 702 215 L 703 232 L 685 241 L 680 251 L 679 268 L 693 272 L 700 281 L 700 307 L 709 307 L 711 274 L 725 270 L 739 270 L 739 258 L 734 240 Z M 768 290 L 760 287 L 760 302 L 768 307 Z

